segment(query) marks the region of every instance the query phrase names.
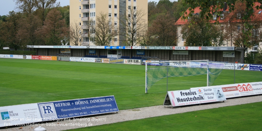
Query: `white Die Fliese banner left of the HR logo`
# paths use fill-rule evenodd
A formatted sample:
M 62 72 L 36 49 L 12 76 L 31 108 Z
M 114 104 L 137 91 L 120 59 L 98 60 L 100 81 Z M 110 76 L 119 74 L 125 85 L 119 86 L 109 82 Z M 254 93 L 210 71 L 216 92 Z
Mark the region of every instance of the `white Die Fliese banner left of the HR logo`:
M 24 126 L 34 122 L 42 121 L 37 103 L 21 104 L 0 107 L 1 119 L 0 127 L 4 126 Z

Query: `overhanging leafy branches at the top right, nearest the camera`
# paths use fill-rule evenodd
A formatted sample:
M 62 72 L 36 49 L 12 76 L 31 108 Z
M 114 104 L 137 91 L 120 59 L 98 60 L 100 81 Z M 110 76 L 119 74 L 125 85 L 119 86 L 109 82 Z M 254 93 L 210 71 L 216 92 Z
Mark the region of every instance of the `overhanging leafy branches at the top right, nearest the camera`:
M 188 16 L 192 17 L 193 13 L 194 13 L 194 9 L 198 6 L 200 6 L 200 18 L 207 18 L 207 19 L 212 19 L 213 18 L 213 14 L 217 14 L 218 16 L 220 16 L 223 13 L 223 8 L 227 7 L 229 8 L 229 12 L 232 12 L 235 10 L 235 6 L 236 6 L 236 2 L 240 1 L 245 3 L 246 6 L 245 7 L 245 14 L 243 15 L 242 19 L 245 20 L 245 27 L 246 29 L 252 29 L 252 25 L 249 24 L 249 22 L 247 21 L 251 14 L 254 12 L 253 6 L 254 6 L 254 2 L 259 2 L 262 3 L 262 0 L 216 0 L 216 1 L 206 1 L 206 0 L 182 0 L 183 5 L 184 6 L 189 6 L 189 14 L 186 13 L 186 10 L 184 10 L 181 15 L 183 19 L 187 19 Z M 226 4 L 224 4 L 226 3 Z M 257 5 L 255 6 L 255 8 L 258 9 L 262 9 L 262 5 Z M 218 24 L 218 21 L 215 22 L 215 24 Z M 252 35 L 251 32 L 244 31 L 244 35 Z M 243 44 L 244 45 L 248 45 L 247 44 L 248 39 L 243 39 Z

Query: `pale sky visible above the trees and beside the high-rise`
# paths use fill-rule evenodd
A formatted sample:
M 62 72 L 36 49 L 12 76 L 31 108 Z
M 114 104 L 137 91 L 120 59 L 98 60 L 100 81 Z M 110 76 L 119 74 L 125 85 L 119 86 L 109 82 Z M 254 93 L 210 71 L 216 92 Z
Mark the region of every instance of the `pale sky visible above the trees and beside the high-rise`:
M 155 1 L 158 2 L 159 0 L 148 0 L 149 1 Z M 60 2 L 60 6 L 67 6 L 69 5 L 69 0 L 57 0 L 56 2 Z M 14 0 L 0 0 L 0 15 L 7 15 L 9 14 L 9 11 L 15 10 L 16 3 Z

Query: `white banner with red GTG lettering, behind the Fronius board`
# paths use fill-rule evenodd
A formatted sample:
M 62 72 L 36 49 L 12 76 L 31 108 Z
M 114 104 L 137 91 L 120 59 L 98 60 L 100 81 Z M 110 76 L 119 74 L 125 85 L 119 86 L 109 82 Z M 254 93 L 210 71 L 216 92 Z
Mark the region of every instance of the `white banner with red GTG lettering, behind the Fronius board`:
M 262 82 L 239 83 L 239 84 L 226 84 L 209 87 L 197 87 L 190 89 L 204 89 L 204 88 L 217 88 L 221 87 L 226 98 L 233 98 L 239 96 L 250 96 L 262 94 Z

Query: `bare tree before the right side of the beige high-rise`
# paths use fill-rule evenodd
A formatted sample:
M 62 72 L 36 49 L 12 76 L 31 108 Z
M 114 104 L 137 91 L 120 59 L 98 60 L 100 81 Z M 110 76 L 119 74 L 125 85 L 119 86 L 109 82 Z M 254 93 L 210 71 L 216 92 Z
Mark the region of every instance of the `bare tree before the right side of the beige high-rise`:
M 138 46 L 138 44 L 144 42 L 147 31 L 145 17 L 144 10 L 134 9 L 133 6 L 127 10 L 127 15 L 119 16 L 119 23 L 122 25 L 119 26 L 119 35 L 125 38 L 122 43 L 129 46 Z

